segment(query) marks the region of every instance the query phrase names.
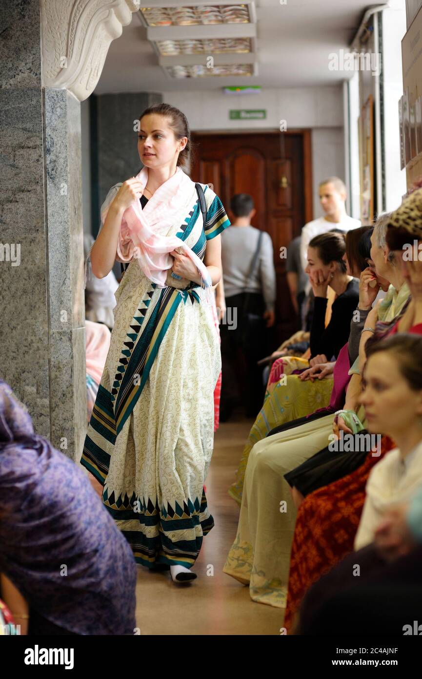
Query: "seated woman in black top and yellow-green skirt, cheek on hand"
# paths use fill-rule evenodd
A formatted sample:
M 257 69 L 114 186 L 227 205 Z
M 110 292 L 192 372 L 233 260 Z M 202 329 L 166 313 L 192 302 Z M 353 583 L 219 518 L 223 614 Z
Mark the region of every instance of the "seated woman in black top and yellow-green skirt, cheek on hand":
M 352 230 L 347 234 L 347 239 L 353 238 L 356 236 Z M 359 283 L 351 273 L 347 273 L 345 250 L 344 236 L 331 232 L 315 236 L 309 244 L 309 263 L 306 271 L 315 295 L 310 339 L 311 356 L 319 363 L 327 361 L 327 356 L 328 359 L 337 356 L 341 346 L 347 342 L 352 314 L 358 305 Z M 354 261 L 351 268 L 353 274 L 359 276 L 360 271 Z M 332 304 L 330 323 L 325 328 L 328 285 L 338 296 Z M 236 481 L 229 488 L 229 494 L 238 504 L 242 502 L 244 474 L 252 446 L 263 439 L 277 424 L 296 420 L 330 402 L 331 375 L 315 384 L 305 383 L 301 382 L 297 375 L 286 374 L 298 367 L 302 369 L 309 367 L 309 361 L 298 358 L 279 359 L 271 369 L 264 405 L 250 430 L 236 472 Z M 286 377 L 280 381 L 281 373 L 285 373 Z

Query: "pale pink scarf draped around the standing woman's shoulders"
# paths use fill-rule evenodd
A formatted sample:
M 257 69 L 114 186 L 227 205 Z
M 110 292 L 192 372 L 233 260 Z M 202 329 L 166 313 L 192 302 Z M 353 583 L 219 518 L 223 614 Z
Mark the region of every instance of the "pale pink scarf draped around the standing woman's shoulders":
M 147 185 L 148 168 L 144 167 L 135 179 L 142 187 Z M 170 252 L 178 248 L 189 257 L 204 280 L 205 287 L 212 285 L 208 270 L 201 259 L 174 232 L 189 214 L 195 200 L 195 183 L 180 167 L 170 179 L 161 184 L 142 208 L 139 200 L 124 211 L 121 219 L 117 256 L 123 262 L 137 259 L 145 276 L 158 287 L 166 287 L 168 269 L 172 268 L 173 257 Z M 104 210 L 103 223 L 107 215 Z

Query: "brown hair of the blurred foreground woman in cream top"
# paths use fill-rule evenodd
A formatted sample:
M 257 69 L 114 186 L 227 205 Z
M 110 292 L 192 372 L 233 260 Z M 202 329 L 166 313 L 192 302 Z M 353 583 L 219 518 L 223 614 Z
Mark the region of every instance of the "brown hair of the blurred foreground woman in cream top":
M 369 356 L 387 351 L 394 354 L 398 360 L 400 373 L 414 391 L 422 390 L 422 337 L 411 333 L 400 333 L 373 342 L 366 348 L 366 359 Z M 366 363 L 365 363 L 366 365 Z

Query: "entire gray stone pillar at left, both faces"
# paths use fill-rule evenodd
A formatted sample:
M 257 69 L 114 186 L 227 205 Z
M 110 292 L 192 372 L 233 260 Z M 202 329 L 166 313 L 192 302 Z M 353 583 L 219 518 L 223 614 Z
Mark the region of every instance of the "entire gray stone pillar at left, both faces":
M 41 86 L 39 0 L 3 3 L 0 24 L 0 375 L 37 433 L 75 457 L 86 428 L 79 101 Z

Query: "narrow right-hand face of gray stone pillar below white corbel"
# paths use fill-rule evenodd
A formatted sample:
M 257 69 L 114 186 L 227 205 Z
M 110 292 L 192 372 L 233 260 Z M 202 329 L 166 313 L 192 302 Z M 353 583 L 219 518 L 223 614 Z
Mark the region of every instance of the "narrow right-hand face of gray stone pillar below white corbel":
M 79 458 L 87 423 L 81 105 L 66 90 L 44 92 L 50 429 L 54 445 L 67 440 Z

